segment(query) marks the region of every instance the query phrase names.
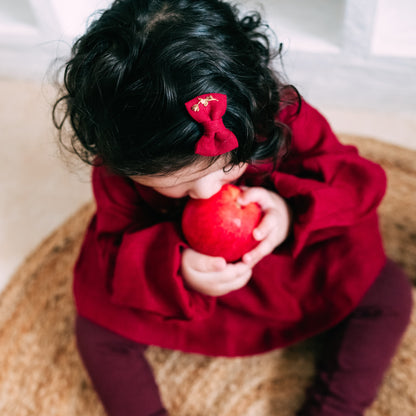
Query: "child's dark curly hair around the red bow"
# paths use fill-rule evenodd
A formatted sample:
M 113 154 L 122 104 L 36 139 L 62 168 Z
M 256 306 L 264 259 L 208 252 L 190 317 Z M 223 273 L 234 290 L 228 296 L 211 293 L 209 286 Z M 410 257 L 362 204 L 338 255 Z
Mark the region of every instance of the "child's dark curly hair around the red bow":
M 289 140 L 276 113 L 295 90 L 271 69 L 264 27 L 257 13 L 239 19 L 219 0 L 116 0 L 65 66 L 53 108 L 61 143 L 69 120 L 70 148 L 85 162 L 167 174 L 203 157 L 194 153 L 201 126 L 184 104 L 215 92 L 227 95 L 223 121 L 239 141 L 229 162 L 276 159 Z

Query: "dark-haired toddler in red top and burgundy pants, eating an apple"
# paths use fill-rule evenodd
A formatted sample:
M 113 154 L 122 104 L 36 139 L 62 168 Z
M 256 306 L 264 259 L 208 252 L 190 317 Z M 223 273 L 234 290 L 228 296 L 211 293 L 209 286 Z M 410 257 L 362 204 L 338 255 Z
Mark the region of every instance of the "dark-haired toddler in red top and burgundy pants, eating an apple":
M 167 415 L 148 345 L 234 357 L 325 332 L 298 415 L 362 415 L 377 394 L 411 309 L 378 228 L 385 174 L 273 70 L 278 54 L 257 13 L 220 0 L 116 0 L 73 46 L 55 124 L 96 200 L 76 335 L 111 416 Z M 234 263 L 180 228 L 188 198 L 226 183 L 264 212 Z

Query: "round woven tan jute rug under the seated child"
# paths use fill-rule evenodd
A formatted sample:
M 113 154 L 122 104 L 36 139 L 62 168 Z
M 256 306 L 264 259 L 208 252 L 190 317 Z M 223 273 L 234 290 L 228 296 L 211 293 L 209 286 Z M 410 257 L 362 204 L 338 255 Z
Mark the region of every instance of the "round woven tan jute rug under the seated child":
M 416 153 L 342 136 L 381 163 L 388 254 L 416 282 Z M 0 415 L 104 416 L 75 348 L 72 267 L 94 207 L 82 207 L 24 262 L 0 295 Z M 416 292 L 415 292 L 416 299 Z M 316 340 L 249 358 L 149 348 L 172 416 L 290 416 L 314 374 Z M 368 416 L 416 414 L 416 311 Z M 126 415 L 129 416 L 129 415 Z

